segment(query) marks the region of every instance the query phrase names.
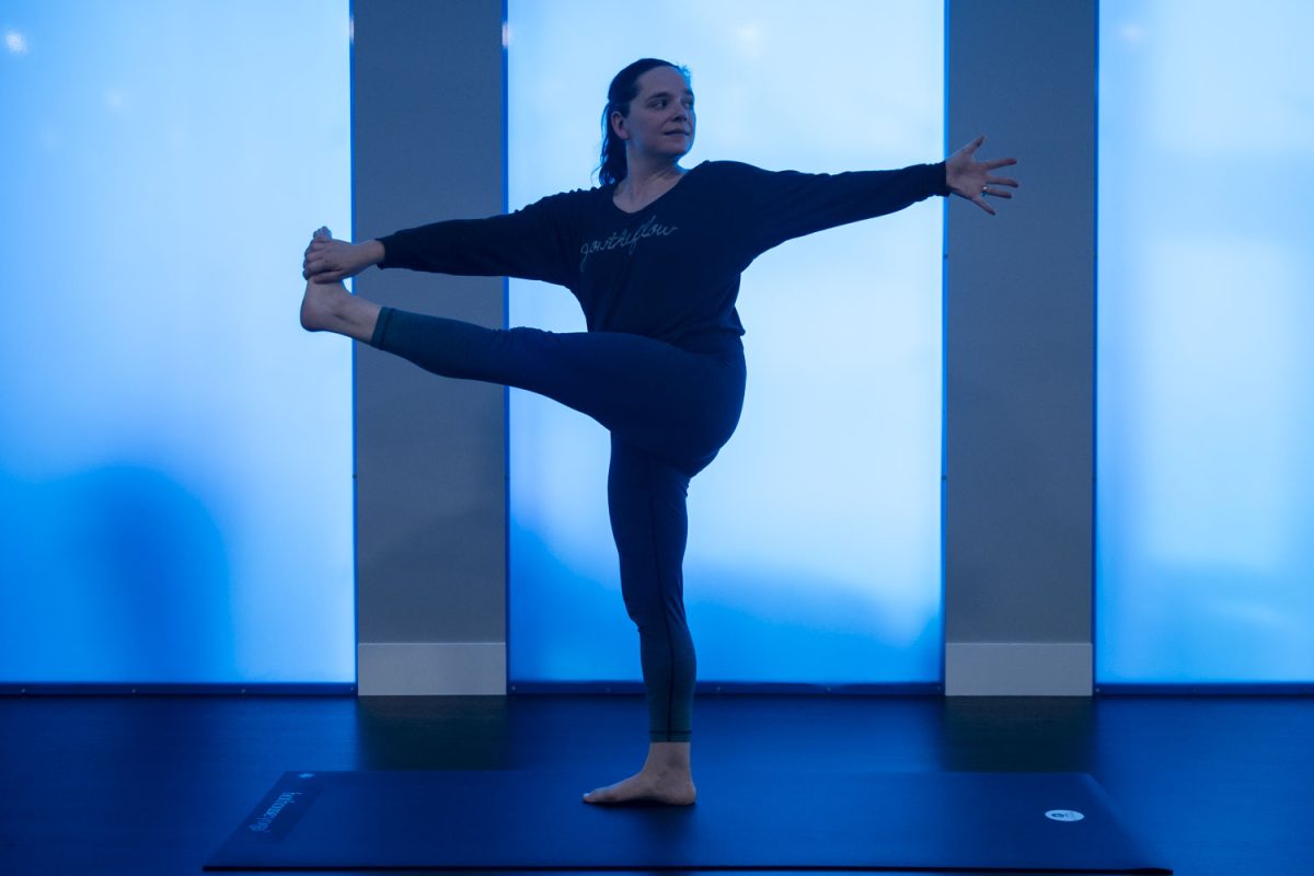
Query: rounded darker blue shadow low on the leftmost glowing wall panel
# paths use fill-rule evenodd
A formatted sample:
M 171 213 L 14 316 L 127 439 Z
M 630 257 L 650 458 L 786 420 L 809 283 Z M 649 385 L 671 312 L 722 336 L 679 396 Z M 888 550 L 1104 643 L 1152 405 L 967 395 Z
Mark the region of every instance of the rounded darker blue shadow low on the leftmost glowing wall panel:
M 159 471 L 0 473 L 0 680 L 231 680 L 230 563 L 210 512 Z

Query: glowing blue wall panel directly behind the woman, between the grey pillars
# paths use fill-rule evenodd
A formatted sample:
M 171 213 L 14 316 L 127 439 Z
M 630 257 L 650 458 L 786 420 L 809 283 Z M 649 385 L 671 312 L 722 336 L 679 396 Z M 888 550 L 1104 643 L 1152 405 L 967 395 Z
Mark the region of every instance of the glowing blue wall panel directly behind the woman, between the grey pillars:
M 943 158 L 938 3 L 511 0 L 509 20 L 511 209 L 594 184 L 607 83 L 649 55 L 692 72 L 685 167 Z M 933 198 L 792 240 L 744 274 L 744 416 L 689 496 L 700 679 L 941 679 L 942 210 Z M 545 284 L 512 281 L 509 314 L 585 327 L 570 293 Z M 510 415 L 510 680 L 637 680 L 607 435 L 527 393 L 512 391 Z

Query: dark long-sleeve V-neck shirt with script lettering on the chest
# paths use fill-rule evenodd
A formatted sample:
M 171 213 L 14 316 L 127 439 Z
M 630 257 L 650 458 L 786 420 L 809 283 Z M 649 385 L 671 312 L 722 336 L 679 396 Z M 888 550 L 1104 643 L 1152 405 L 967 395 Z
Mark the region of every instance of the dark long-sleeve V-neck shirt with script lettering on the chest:
M 791 238 L 949 194 L 945 164 L 850 173 L 771 172 L 703 162 L 636 213 L 615 185 L 545 197 L 515 213 L 380 238 L 381 268 L 544 280 L 570 289 L 589 331 L 700 349 L 742 335 L 740 274 Z

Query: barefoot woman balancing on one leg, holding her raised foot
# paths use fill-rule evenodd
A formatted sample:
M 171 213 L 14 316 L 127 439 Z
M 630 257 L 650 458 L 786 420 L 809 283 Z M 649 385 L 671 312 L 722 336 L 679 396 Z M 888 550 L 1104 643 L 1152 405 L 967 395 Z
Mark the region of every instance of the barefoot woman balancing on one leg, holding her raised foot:
M 694 143 L 687 71 L 653 58 L 622 70 L 603 112 L 602 185 L 509 215 L 451 221 L 352 244 L 325 229 L 306 250 L 301 324 L 332 331 L 445 377 L 540 393 L 611 432 L 607 500 L 625 608 L 639 628 L 649 707 L 643 770 L 586 802 L 694 802 L 695 657 L 681 565 L 689 481 L 716 456 L 744 401 L 740 274 L 791 238 L 955 193 L 993 214 L 1012 197 L 976 162 L 984 138 L 947 162 L 901 171 L 773 173 L 736 162 L 679 165 Z M 347 293 L 369 265 L 512 276 L 570 289 L 587 332 L 493 331 Z

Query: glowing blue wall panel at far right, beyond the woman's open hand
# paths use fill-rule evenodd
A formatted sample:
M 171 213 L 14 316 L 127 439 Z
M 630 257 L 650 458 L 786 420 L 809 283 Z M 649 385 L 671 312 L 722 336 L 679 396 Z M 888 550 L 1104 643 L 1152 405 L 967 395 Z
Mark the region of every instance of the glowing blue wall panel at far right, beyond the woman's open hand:
M 1314 680 L 1311 28 L 1101 8 L 1102 683 Z

